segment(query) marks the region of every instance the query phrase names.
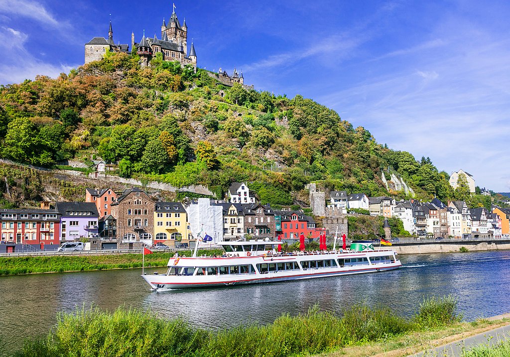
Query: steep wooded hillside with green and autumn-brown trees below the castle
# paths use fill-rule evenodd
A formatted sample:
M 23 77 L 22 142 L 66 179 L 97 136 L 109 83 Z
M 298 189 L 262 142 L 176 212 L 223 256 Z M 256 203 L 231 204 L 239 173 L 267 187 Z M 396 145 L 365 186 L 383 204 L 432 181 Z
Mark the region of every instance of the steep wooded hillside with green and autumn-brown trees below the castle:
M 20 163 L 102 158 L 118 162 L 123 177 L 204 184 L 217 194 L 247 181 L 273 205 L 304 198 L 312 181 L 403 198 L 387 192 L 383 172 L 403 177 L 417 198 L 467 197 L 428 158 L 378 144 L 311 99 L 226 87 L 161 57 L 140 68 L 137 56 L 108 53 L 55 80 L 1 87 L 0 138 L 2 158 Z

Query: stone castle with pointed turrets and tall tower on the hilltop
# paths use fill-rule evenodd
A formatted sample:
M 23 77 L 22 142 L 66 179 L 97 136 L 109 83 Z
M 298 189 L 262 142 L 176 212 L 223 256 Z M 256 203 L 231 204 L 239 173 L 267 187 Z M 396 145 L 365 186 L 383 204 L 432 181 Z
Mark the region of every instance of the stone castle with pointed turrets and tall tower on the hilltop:
M 156 35 L 154 38 L 145 37 L 145 33 L 140 42 L 135 42 L 135 33 L 131 34 L 131 48 L 136 48 L 140 56 L 140 65 L 147 66 L 153 56 L 158 53 L 163 55 L 164 61 L 179 61 L 182 66 L 191 64 L 196 68 L 196 52 L 191 42 L 191 48 L 188 55 L 188 26 L 186 19 L 183 24 L 177 18 L 175 6 L 168 25 L 163 18 L 161 25 L 161 39 Z M 107 50 L 111 52 L 130 53 L 128 44 L 115 44 L 113 41 L 112 22 L 108 31 L 108 40 L 104 37 L 94 37 L 85 44 L 85 63 L 99 61 L 103 58 Z

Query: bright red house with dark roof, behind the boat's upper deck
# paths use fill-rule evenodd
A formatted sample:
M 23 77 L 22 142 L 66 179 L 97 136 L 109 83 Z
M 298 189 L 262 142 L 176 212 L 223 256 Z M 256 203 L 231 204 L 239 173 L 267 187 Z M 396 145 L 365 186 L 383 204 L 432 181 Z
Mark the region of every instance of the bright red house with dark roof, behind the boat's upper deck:
M 281 222 L 276 234 L 282 234 L 283 239 L 299 239 L 305 237 L 316 239 L 321 230 L 316 228 L 315 220 L 301 211 L 274 211 L 277 221 Z

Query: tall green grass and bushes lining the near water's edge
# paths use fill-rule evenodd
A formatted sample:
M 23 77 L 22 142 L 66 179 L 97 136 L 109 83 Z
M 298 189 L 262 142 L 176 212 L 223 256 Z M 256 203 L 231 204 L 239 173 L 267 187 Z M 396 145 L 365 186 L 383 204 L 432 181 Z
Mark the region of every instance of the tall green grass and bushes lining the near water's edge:
M 428 299 L 427 307 L 436 304 L 436 310 L 443 309 L 441 301 Z M 456 321 L 456 316 L 449 320 Z M 342 317 L 337 317 L 315 305 L 307 313 L 284 314 L 271 324 L 212 331 L 194 328 L 182 318 L 164 320 L 151 312 L 119 308 L 109 314 L 91 308 L 60 314 L 47 338 L 25 342 L 16 355 L 287 357 L 386 340 L 423 329 L 415 323 L 417 319 L 406 320 L 387 308 L 372 309 L 365 304 L 345 309 Z

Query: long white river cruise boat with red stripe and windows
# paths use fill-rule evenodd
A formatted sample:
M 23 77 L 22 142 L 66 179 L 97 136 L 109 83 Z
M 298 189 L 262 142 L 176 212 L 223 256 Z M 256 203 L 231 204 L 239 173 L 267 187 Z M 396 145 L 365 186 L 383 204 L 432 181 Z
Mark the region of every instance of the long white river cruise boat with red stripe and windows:
M 174 257 L 166 274 L 143 274 L 153 290 L 283 282 L 369 273 L 402 266 L 396 251 L 353 241 L 339 251 L 278 253 L 281 241 L 220 242 L 222 257 Z

